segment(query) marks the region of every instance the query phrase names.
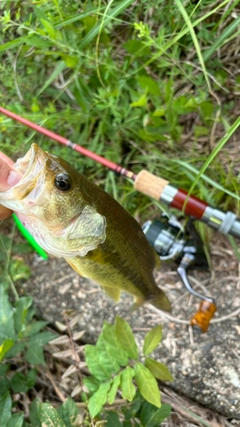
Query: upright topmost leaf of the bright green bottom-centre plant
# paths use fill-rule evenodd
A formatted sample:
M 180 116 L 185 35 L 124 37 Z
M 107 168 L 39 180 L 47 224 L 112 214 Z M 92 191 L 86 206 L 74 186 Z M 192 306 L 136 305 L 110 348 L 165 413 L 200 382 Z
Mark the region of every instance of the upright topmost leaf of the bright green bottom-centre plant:
M 115 331 L 119 344 L 131 359 L 138 358 L 138 348 L 129 324 L 121 317 L 116 316 Z

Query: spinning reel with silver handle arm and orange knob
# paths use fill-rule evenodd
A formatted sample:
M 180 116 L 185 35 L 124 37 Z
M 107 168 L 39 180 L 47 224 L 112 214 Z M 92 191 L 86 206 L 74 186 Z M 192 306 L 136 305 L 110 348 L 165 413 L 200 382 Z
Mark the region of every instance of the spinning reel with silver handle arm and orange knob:
M 199 310 L 192 317 L 190 324 L 202 332 L 206 332 L 216 311 L 216 304 L 213 298 L 195 291 L 187 277 L 187 270 L 190 266 L 207 267 L 207 259 L 192 219 L 190 218 L 185 228 L 175 216 L 171 215 L 168 218 L 163 214 L 161 220 L 149 220 L 143 224 L 142 228 L 160 260 L 177 262 L 179 264 L 177 272 L 182 283 L 188 292 L 202 300 Z

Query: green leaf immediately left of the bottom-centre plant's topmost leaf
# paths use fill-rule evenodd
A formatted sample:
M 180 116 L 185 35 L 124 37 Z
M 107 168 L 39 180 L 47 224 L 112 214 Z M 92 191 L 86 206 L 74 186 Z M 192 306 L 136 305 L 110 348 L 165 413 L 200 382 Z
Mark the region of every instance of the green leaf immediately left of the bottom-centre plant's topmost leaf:
M 119 363 L 119 365 L 126 366 L 128 364 L 128 355 L 119 344 L 115 326 L 104 322 L 101 334 L 108 346 L 108 351 L 111 356 Z

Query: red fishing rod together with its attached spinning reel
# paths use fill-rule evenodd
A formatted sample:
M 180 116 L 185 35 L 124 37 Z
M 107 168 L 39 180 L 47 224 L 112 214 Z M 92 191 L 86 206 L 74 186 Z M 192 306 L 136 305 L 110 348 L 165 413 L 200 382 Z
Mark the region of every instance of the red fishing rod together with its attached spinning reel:
M 147 170 L 142 170 L 138 174 L 135 174 L 87 148 L 75 144 L 67 138 L 37 125 L 3 107 L 0 107 L 0 113 L 104 165 L 118 175 L 131 179 L 137 191 L 164 203 L 168 207 L 178 209 L 184 214 L 207 224 L 209 227 L 223 234 L 230 234 L 240 238 L 240 219 L 238 219 L 233 212 L 223 212 L 219 209 L 215 209 L 203 200 L 188 195 L 185 190 L 176 188 L 169 183 L 169 181 L 157 177 Z M 196 261 L 199 255 L 198 245 L 190 239 L 189 234 L 186 234 L 182 225 L 173 216 L 170 216 L 169 219 L 165 218 L 162 221 L 147 221 L 143 225 L 143 231 L 149 243 L 159 254 L 160 259 L 180 259 L 177 272 L 183 284 L 190 293 L 202 300 L 199 310 L 191 319 L 190 324 L 206 332 L 210 320 L 216 311 L 215 301 L 211 297 L 196 292 L 191 287 L 186 274 L 188 267 Z

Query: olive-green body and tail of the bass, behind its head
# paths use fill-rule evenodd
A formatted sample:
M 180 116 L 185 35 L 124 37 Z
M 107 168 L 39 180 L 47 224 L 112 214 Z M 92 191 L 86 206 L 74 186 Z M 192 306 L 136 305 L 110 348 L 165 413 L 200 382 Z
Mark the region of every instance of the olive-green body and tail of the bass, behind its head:
M 70 264 L 104 289 L 121 289 L 134 295 L 137 305 L 149 301 L 170 310 L 167 297 L 153 277 L 157 255 L 141 226 L 116 200 L 80 174 L 78 183 L 81 197 L 106 218 L 106 240 L 84 257 L 68 260 Z

